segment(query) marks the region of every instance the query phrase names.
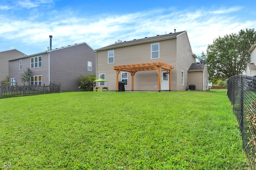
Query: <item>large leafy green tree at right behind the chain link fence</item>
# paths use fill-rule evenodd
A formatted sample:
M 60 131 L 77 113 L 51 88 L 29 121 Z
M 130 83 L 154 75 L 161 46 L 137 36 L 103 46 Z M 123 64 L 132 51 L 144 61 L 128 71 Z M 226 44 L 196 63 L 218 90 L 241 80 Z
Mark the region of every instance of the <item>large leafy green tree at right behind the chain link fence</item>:
M 254 29 L 218 37 L 207 47 L 209 80 L 216 83 L 234 75 L 242 74 L 250 62 L 248 50 L 256 43 Z

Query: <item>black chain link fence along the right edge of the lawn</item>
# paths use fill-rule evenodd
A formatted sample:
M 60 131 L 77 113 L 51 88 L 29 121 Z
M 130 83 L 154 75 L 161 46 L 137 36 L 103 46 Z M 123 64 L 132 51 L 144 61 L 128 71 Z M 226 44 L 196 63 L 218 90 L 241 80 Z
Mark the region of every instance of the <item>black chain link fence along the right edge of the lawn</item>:
M 251 169 L 256 170 L 256 77 L 230 77 L 228 98 L 239 123 L 243 147 Z

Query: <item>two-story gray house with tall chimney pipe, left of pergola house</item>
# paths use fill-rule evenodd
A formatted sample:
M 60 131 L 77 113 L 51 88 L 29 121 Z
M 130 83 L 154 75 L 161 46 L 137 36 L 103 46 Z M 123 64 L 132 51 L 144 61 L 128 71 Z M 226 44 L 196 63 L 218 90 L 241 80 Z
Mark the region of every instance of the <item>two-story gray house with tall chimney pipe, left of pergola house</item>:
M 23 84 L 21 74 L 31 68 L 32 85 L 42 86 L 55 82 L 61 84 L 61 90 L 78 90 L 77 78 L 96 72 L 96 52 L 86 43 L 51 50 L 50 42 L 49 51 L 8 61 L 9 78 L 17 84 Z

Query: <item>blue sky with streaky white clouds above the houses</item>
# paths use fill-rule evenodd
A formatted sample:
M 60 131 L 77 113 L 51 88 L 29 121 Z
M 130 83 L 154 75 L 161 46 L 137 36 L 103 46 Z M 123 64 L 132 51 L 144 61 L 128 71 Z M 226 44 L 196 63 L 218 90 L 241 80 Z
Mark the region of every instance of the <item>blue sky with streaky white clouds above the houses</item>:
M 255 0 L 1 0 L 0 51 L 26 55 L 86 42 L 93 49 L 187 31 L 192 51 L 256 26 Z

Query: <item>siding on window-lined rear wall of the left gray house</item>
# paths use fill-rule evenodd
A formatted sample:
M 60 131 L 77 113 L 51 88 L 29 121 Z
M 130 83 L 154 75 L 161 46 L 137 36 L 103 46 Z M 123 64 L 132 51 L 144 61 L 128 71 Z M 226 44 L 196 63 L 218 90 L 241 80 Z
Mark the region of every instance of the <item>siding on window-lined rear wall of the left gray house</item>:
M 42 56 L 42 67 L 31 68 L 30 58 Z M 22 70 L 20 70 L 20 60 L 22 60 Z M 16 78 L 16 82 L 18 85 L 22 85 L 21 82 L 21 74 L 27 70 L 27 68 L 31 68 L 32 76 L 42 76 L 42 84 L 48 85 L 48 53 L 34 55 L 25 57 L 22 59 L 16 59 L 9 61 L 9 79 Z M 28 84 L 27 82 L 25 84 Z

